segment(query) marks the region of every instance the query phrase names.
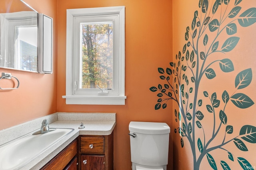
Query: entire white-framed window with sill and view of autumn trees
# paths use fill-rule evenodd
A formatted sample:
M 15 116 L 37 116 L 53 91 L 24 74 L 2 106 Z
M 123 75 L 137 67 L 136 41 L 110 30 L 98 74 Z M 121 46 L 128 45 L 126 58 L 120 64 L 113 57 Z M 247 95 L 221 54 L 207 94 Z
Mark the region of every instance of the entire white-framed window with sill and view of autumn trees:
M 124 105 L 124 6 L 67 10 L 66 104 Z

